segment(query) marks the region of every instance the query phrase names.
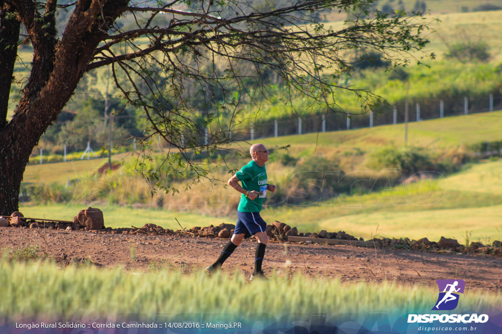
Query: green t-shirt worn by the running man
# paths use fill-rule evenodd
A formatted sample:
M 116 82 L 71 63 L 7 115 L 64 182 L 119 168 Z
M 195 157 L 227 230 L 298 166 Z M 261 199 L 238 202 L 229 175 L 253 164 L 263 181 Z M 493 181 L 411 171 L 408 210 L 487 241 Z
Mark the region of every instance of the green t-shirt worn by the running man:
M 251 160 L 235 175 L 237 175 L 242 188 L 246 191 L 256 190 L 260 192 L 260 195 L 255 200 L 251 200 L 242 194 L 237 210 L 240 212 L 260 212 L 267 195 L 267 170 L 265 169 L 265 165 L 260 167 L 254 160 Z

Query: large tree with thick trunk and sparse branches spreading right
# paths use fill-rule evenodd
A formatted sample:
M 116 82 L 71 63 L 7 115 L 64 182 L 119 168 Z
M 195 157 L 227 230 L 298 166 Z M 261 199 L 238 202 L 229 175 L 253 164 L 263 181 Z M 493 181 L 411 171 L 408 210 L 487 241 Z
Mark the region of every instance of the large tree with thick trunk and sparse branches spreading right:
M 326 111 L 340 88 L 371 108 L 378 100 L 371 93 L 337 86 L 354 55 L 379 51 L 395 66 L 427 42 L 420 13 L 383 14 L 372 2 L 0 0 L 0 214 L 18 209 L 32 150 L 82 77 L 99 68 L 109 69 L 124 103 L 144 113 L 144 139 L 170 144 L 173 171 L 197 171 L 189 153 L 228 145 L 241 131 L 237 114 L 249 110 L 242 103 L 266 98 L 271 83 L 286 99 L 302 94 Z M 327 11 L 363 15 L 334 30 L 320 23 Z M 33 47 L 33 60 L 29 76 L 16 78 L 24 84 L 8 117 L 21 44 Z

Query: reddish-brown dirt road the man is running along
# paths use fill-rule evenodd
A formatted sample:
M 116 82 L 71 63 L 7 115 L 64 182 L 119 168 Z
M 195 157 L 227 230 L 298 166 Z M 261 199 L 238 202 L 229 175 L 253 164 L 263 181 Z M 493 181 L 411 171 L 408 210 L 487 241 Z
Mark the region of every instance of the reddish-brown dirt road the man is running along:
M 90 257 L 99 266 L 123 266 L 134 271 L 148 271 L 154 261 L 161 260 L 187 274 L 202 270 L 214 262 L 226 242 L 203 237 L 0 227 L 0 248 L 37 244 L 41 256 L 47 252 L 61 265 Z M 224 272 L 238 268 L 242 275 L 249 276 L 255 243 L 242 242 L 225 262 Z M 281 275 L 339 278 L 343 282 L 387 280 L 432 287 L 437 287 L 437 279 L 460 278 L 465 280 L 466 289 L 502 292 L 502 257 L 491 255 L 270 242 L 264 270 L 270 273 L 274 269 Z

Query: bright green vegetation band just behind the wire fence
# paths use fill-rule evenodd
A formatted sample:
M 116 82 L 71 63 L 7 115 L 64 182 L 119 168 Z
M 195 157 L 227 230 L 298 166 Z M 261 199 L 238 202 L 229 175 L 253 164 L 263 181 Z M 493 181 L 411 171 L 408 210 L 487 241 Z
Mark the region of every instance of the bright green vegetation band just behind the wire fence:
M 463 98 L 468 97 L 476 101 L 484 108 L 488 108 L 489 94 L 498 94 L 502 86 L 500 79 L 500 69 L 496 63 L 468 62 L 461 63 L 457 60 L 437 60 L 426 65 L 409 66 L 406 68 L 408 82 L 395 77 L 396 73 L 385 69 L 368 69 L 359 73 L 354 73 L 351 77 L 341 77 L 339 85 L 348 85 L 352 88 L 370 91 L 387 101 L 389 105 L 398 106 L 399 119 L 404 119 L 404 103 L 409 84 L 409 106 L 410 118 L 414 118 L 415 103 L 421 103 L 422 113 L 428 113 L 427 108 L 433 108 L 432 115 L 439 117 L 439 100 L 443 99 L 448 104 L 456 100 L 457 108 L 463 105 Z M 314 101 L 294 98 L 280 100 L 281 92 L 277 87 L 269 89 L 273 96 L 270 102 L 263 103 L 261 110 L 252 108 L 249 114 L 239 115 L 239 120 L 247 126 L 255 122 L 254 115 L 258 115 L 259 124 L 273 123 L 274 120 L 285 121 L 291 118 L 307 117 L 312 114 L 323 114 L 325 112 Z M 330 98 L 331 99 L 331 98 Z M 352 114 L 356 119 L 365 119 L 364 123 L 369 123 L 369 115 L 361 115 L 361 105 L 363 101 L 357 100 L 354 94 L 345 89 L 334 91 L 336 105 L 345 112 Z M 435 100 L 435 105 L 428 105 L 431 100 Z M 472 106 L 470 107 L 472 108 Z M 382 112 L 392 118 L 392 108 L 385 107 Z M 445 108 L 448 113 L 448 107 Z M 378 119 L 378 115 L 376 116 Z M 345 128 L 345 119 L 338 118 L 341 128 Z M 224 118 L 220 121 L 224 122 Z M 367 123 L 366 123 L 367 122 Z

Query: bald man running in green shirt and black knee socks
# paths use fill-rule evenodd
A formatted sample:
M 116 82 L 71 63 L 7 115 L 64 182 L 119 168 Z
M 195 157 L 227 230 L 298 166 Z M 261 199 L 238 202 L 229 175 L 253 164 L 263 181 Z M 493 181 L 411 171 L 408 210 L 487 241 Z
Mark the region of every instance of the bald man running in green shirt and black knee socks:
M 267 184 L 265 163 L 269 160 L 270 151 L 263 144 L 254 144 L 249 149 L 249 153 L 252 160 L 228 180 L 228 184 L 242 194 L 237 208 L 238 219 L 233 235 L 221 251 L 216 262 L 208 266 L 206 271 L 212 274 L 219 270 L 223 262 L 240 245 L 242 239 L 254 235 L 258 239 L 258 245 L 256 247 L 255 271 L 253 271 L 250 279 L 267 279 L 262 271 L 262 263 L 269 238 L 265 232 L 267 223 L 260 216 L 260 211 L 267 190 L 274 192 L 276 186 Z M 239 185 L 239 181 L 242 186 Z

